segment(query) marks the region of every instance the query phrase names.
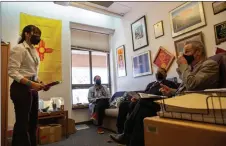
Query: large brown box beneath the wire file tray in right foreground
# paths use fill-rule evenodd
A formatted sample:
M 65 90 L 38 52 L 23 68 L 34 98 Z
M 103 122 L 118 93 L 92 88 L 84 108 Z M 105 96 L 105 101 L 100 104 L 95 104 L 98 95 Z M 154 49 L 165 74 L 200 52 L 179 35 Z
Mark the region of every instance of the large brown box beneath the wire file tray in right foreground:
M 151 117 L 144 119 L 145 146 L 224 146 L 226 126 Z

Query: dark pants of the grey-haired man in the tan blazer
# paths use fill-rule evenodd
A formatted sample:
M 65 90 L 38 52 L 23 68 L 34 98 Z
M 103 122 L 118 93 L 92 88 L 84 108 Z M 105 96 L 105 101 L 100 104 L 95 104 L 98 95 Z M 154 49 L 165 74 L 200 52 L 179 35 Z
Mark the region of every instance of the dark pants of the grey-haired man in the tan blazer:
M 144 146 L 144 123 L 146 117 L 156 116 L 160 106 L 152 99 L 141 99 L 125 122 L 124 133 L 127 146 Z

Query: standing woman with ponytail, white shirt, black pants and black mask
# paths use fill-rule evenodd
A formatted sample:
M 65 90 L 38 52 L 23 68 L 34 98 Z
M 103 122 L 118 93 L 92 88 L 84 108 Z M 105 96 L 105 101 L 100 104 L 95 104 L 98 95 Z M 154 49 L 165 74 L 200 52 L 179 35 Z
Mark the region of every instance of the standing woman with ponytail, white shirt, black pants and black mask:
M 37 146 L 38 91 L 45 86 L 37 77 L 40 60 L 34 45 L 40 42 L 41 30 L 27 25 L 21 37 L 10 50 L 8 66 L 8 74 L 14 80 L 10 96 L 16 116 L 12 146 Z

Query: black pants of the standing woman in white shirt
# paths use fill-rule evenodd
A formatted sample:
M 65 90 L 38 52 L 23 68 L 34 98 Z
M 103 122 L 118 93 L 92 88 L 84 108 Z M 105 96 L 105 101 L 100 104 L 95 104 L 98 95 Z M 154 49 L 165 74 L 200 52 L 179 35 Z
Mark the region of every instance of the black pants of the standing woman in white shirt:
M 37 146 L 38 92 L 14 81 L 11 84 L 10 96 L 16 117 L 12 146 Z

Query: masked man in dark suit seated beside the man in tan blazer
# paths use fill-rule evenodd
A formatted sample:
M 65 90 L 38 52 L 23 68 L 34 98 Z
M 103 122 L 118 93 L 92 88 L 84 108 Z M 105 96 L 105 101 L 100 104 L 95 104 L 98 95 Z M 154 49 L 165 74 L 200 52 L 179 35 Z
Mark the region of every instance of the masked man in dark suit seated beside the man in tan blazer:
M 173 89 L 177 89 L 178 86 L 174 82 L 166 80 L 166 76 L 167 76 L 167 71 L 164 68 L 158 68 L 156 73 L 157 81 L 149 83 L 146 89 L 144 90 L 144 93 L 162 95 L 162 92 L 159 91 L 159 89 L 161 88 L 160 83 L 167 85 Z M 132 97 L 131 100 L 124 101 L 120 104 L 117 124 L 116 124 L 118 128 L 118 133 L 123 133 L 126 117 L 128 114 L 130 114 L 133 111 L 133 108 L 135 107 L 137 101 L 138 99 L 136 99 L 135 97 Z

